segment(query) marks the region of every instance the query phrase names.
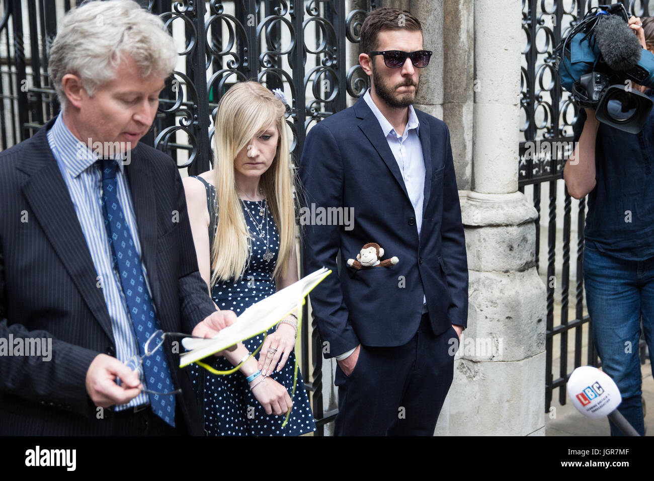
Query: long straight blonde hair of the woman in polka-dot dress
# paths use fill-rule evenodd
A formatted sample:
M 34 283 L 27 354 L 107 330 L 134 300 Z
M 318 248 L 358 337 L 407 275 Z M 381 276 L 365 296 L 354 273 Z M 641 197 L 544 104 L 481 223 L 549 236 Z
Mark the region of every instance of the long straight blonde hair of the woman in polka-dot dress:
M 258 82 L 235 84 L 220 99 L 214 135 L 214 185 L 218 229 L 211 246 L 211 285 L 218 279 L 240 278 L 248 265 L 250 233 L 236 190 L 234 161 L 241 149 L 274 122 L 279 132 L 277 153 L 259 181 L 279 232 L 274 276 L 285 276 L 295 249 L 295 202 L 288 134 L 280 99 Z

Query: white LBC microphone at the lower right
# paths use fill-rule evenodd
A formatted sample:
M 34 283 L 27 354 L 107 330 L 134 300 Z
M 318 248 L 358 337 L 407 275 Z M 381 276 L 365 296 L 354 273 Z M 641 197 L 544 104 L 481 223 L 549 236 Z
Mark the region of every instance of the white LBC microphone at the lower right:
M 567 389 L 572 404 L 587 418 L 608 416 L 625 436 L 640 436 L 617 410 L 622 402 L 620 389 L 606 372 L 593 366 L 578 367 L 572 371 Z

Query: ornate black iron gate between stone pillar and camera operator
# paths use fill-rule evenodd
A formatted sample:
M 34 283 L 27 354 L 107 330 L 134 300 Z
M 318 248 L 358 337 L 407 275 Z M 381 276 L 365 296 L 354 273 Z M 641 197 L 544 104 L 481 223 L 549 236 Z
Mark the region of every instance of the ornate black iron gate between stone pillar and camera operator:
M 617 3 L 615 1 L 586 0 L 523 0 L 523 31 L 525 48 L 521 69 L 521 132 L 525 140 L 520 143 L 519 188 L 532 189 L 534 206 L 538 211 L 536 220 L 536 268 L 540 253 L 540 212 L 542 186 L 549 190 L 547 206 L 547 336 L 545 372 L 545 410 L 549 411 L 554 389 L 559 389 L 559 403 L 566 404 L 566 383 L 572 370 L 582 364 L 583 329 L 587 329 L 586 365 L 600 366 L 592 340 L 592 323 L 584 313 L 583 297 L 583 228 L 585 222 L 585 198 L 579 200 L 577 211 L 576 279 L 574 319 L 569 319 L 570 291 L 570 236 L 572 230 L 572 198 L 562 181 L 563 166 L 572 153 L 570 148 L 541 149 L 541 142 L 549 146 L 571 147 L 572 125 L 577 109 L 570 101 L 568 92 L 562 92 L 555 73 L 553 50 L 568 31 L 581 20 L 591 7 Z M 649 0 L 621 1 L 628 12 L 635 16 L 649 16 Z M 535 154 L 534 154 L 535 152 Z M 530 186 L 530 187 L 528 187 Z M 560 276 L 556 274 L 557 245 L 557 189 L 564 190 L 562 219 L 562 263 Z M 555 325 L 555 291 L 560 277 L 560 322 Z M 574 330 L 574 361 L 568 368 L 568 333 Z M 559 338 L 559 372 L 553 372 L 555 336 Z M 640 359 L 645 363 L 645 343 L 641 338 Z

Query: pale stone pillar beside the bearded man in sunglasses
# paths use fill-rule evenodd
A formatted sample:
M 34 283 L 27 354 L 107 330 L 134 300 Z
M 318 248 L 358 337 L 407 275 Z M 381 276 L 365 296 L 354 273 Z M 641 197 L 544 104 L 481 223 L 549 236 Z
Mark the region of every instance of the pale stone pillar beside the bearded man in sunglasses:
M 446 10 L 451 16 L 447 25 L 453 26 L 446 35 L 454 30 L 455 36 L 447 37 L 453 65 L 448 63 L 445 71 L 467 79 L 468 90 L 460 92 L 453 80 L 446 84 L 452 95 L 445 98 L 453 130 L 464 137 L 456 142 L 464 142 L 468 152 L 469 105 L 457 105 L 456 98 L 473 95 L 471 190 L 460 192 L 470 307 L 447 412 L 436 432 L 544 435 L 545 285 L 534 262 L 536 209 L 517 192 L 521 7 L 515 0 L 459 3 L 463 8 L 458 15 L 472 15 L 474 42 L 462 41 L 470 37 L 458 31 L 470 18 L 458 18 L 457 24 L 455 10 Z M 472 84 L 464 50 L 473 52 Z M 457 168 L 462 166 L 457 178 L 465 185 L 467 166 L 459 163 Z M 441 423 L 444 416 L 447 422 Z

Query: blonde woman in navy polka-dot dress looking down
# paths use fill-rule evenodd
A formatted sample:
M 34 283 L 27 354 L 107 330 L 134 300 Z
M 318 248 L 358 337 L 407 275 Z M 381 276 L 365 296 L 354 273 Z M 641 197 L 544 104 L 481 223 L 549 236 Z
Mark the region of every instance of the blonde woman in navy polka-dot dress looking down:
M 295 209 L 284 103 L 257 82 L 223 96 L 216 113 L 213 170 L 184 179 L 199 271 L 216 306 L 237 315 L 298 280 Z M 301 376 L 291 400 L 297 317 L 267 333 L 258 359 L 217 376 L 194 366 L 209 435 L 301 435 L 315 431 Z M 228 370 L 247 359 L 264 335 L 213 361 Z M 292 409 L 288 424 L 281 427 Z

